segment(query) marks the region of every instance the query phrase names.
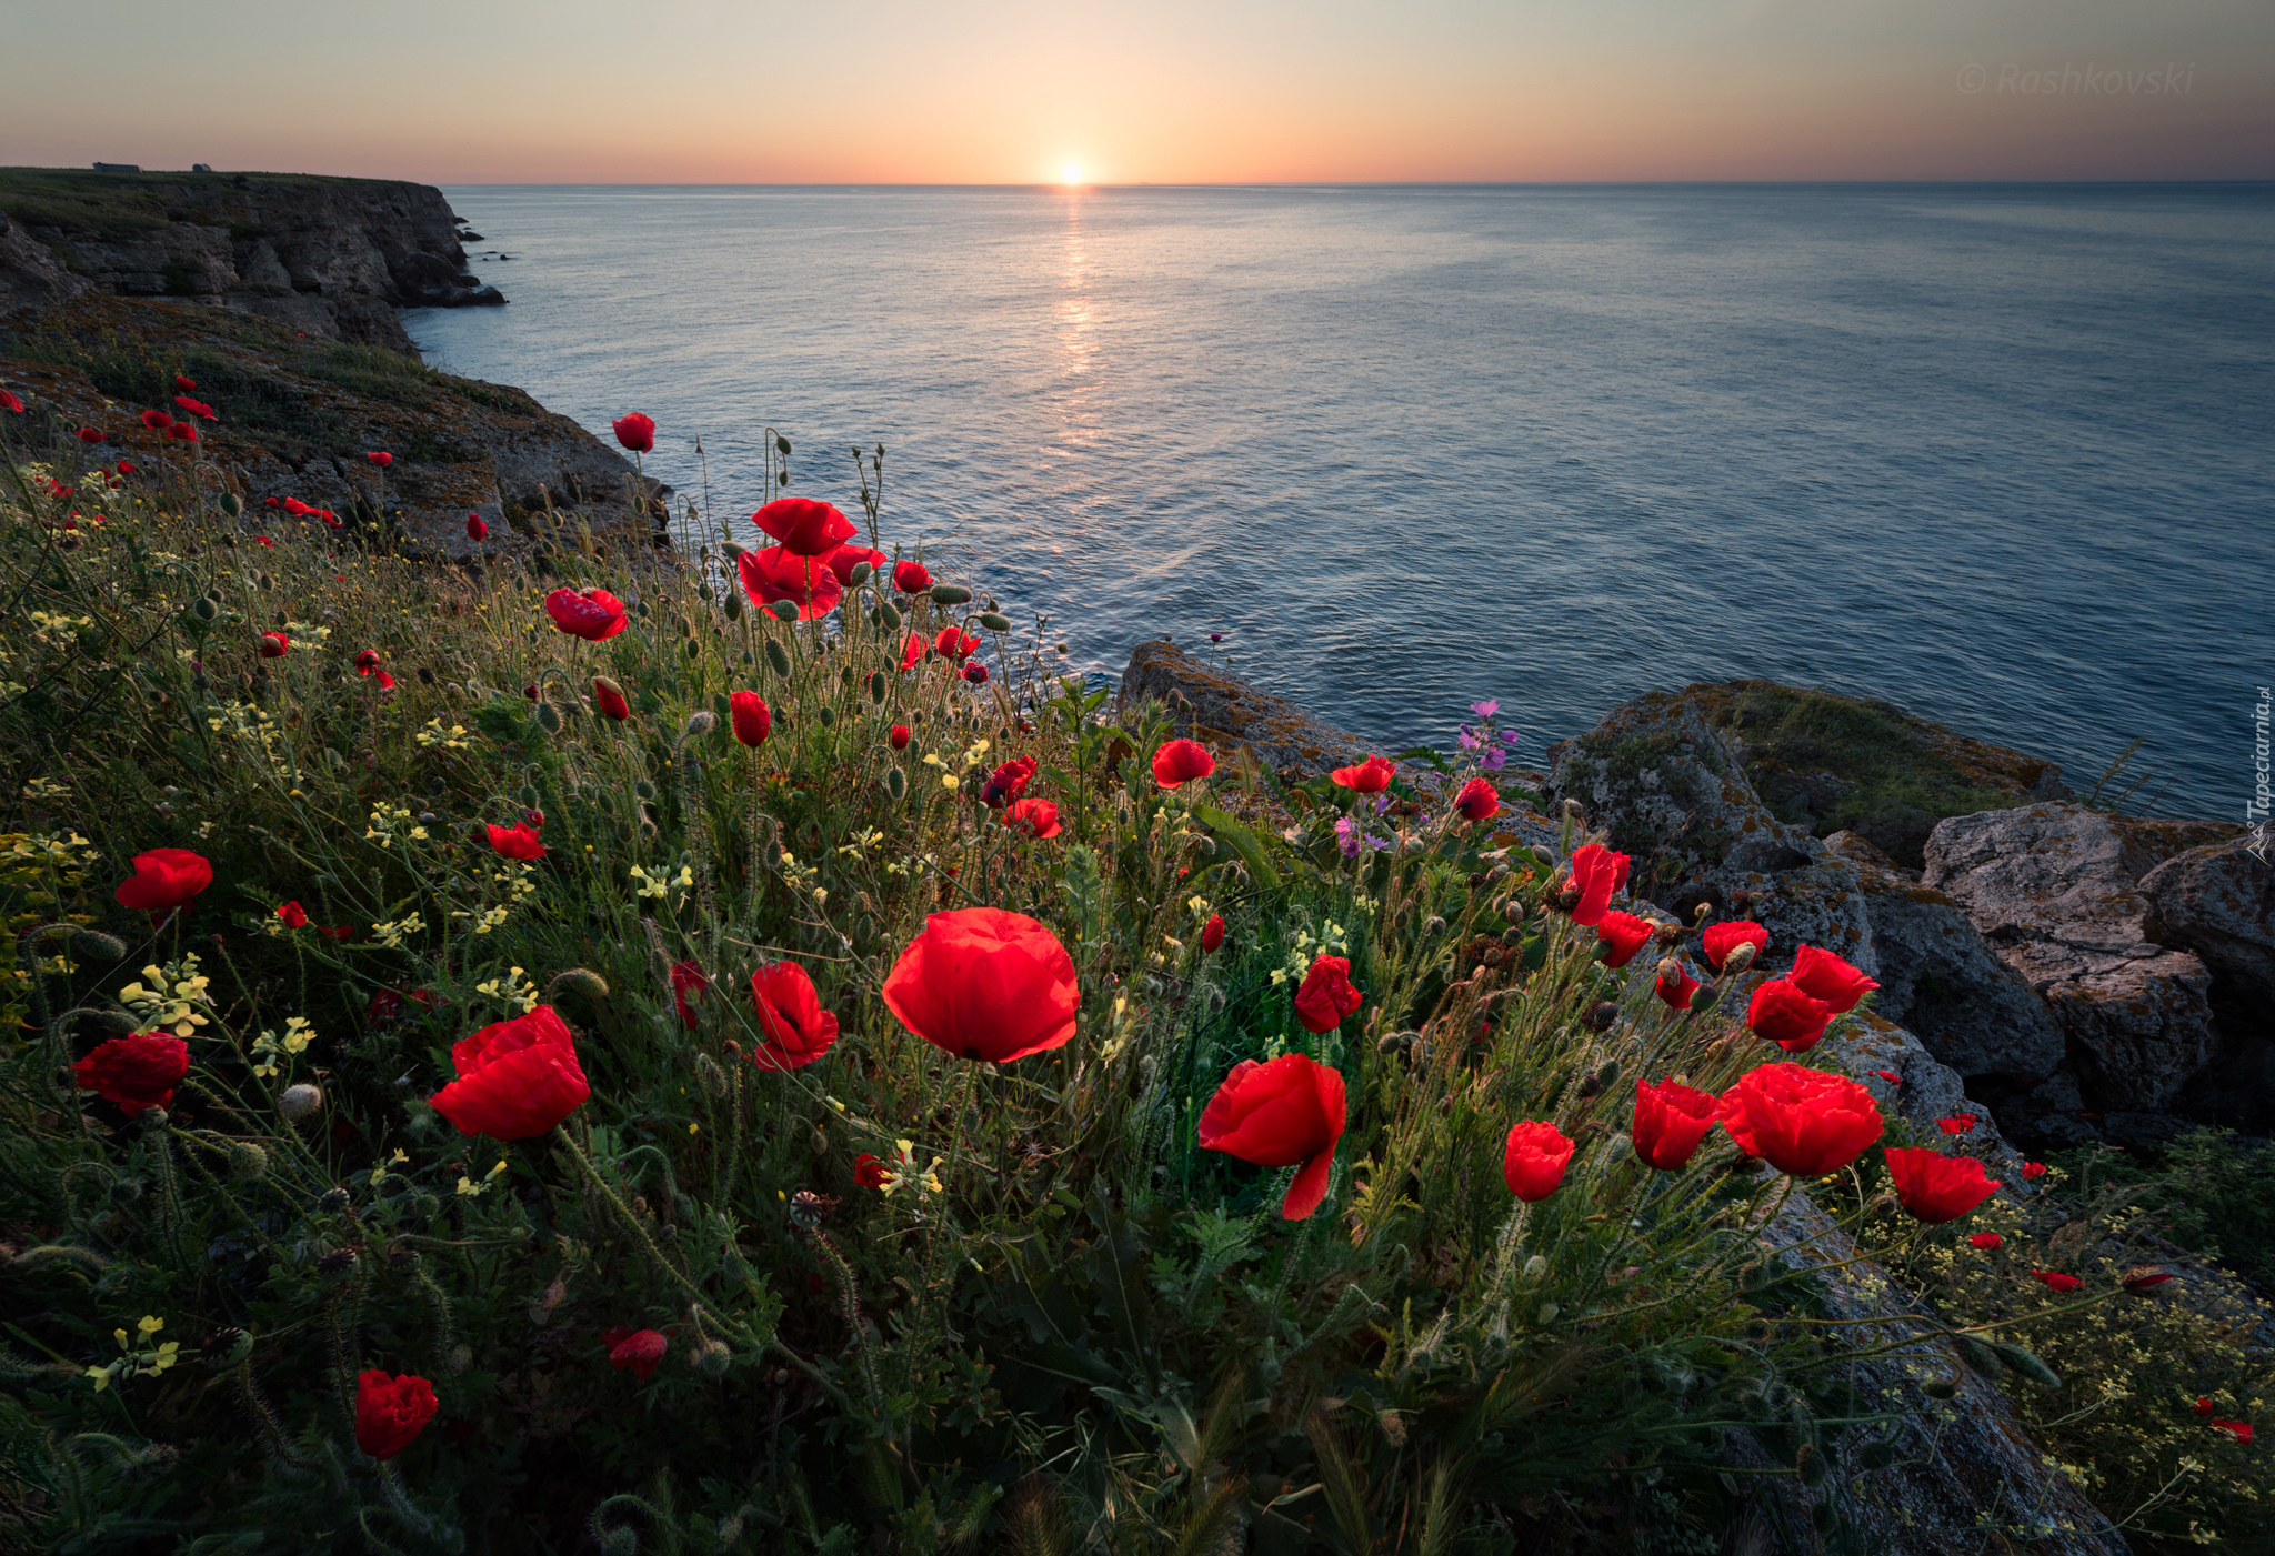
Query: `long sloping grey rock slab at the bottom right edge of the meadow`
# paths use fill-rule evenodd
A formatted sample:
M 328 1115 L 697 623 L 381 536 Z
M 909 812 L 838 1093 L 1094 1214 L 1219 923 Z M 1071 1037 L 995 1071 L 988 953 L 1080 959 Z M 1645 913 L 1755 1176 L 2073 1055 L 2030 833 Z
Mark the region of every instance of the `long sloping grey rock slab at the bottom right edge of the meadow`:
M 1895 1460 L 1881 1470 L 1861 1463 L 1872 1435 L 1859 1429 L 1843 1431 L 1838 1442 L 1820 1438 L 1815 1449 L 1836 1458 L 1815 1497 L 1831 1501 L 1863 1536 L 1861 1549 L 1888 1556 L 1975 1549 L 2125 1556 L 2125 1536 L 2038 1451 L 2000 1388 L 1959 1360 L 1927 1303 L 1861 1258 L 1815 1201 L 1790 1194 L 1759 1238 L 1774 1267 L 1804 1274 L 1825 1317 L 1847 1319 L 1825 1331 L 1836 1354 L 1856 1356 L 1843 1369 L 1856 1388 L 1843 1408 L 1854 1415 L 1886 1410 L 1902 1422 L 1891 1440 Z M 1881 1347 L 1897 1349 L 1872 1354 Z M 1956 1394 L 1931 1399 L 1922 1383 L 1954 1383 Z M 1777 1442 L 1777 1456 L 1768 1447 L 1761 1445 L 1768 1463 L 1793 1463 L 1795 1447 Z M 1806 1495 L 1800 1481 L 1784 1481 L 1772 1492 L 1788 1504 Z M 1806 1536 L 1806 1506 L 1786 1506 L 1779 1522 L 1788 1526 L 1788 1549 L 1822 1549 Z

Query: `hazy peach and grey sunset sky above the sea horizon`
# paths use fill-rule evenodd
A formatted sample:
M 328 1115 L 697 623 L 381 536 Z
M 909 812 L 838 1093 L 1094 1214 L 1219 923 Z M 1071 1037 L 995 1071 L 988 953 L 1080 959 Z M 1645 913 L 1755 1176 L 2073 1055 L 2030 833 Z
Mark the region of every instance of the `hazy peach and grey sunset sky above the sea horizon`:
M 2268 0 L 0 0 L 0 164 L 510 182 L 2275 175 Z

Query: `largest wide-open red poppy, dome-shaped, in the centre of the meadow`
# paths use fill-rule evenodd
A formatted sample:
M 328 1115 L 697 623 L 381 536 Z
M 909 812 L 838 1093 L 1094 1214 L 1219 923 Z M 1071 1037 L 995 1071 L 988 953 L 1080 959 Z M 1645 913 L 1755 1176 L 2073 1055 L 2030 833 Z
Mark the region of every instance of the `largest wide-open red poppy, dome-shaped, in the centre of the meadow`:
M 885 976 L 885 1008 L 935 1049 L 1008 1065 L 1074 1037 L 1081 992 L 1058 935 L 1019 912 L 926 917 Z

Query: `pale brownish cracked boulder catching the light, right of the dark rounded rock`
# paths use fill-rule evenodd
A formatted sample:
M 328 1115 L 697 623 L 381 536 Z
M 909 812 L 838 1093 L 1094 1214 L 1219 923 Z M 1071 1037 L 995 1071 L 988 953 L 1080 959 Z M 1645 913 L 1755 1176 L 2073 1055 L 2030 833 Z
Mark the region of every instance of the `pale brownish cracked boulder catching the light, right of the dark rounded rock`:
M 1959 903 L 2048 1003 L 2095 1110 L 2166 1112 L 2218 1053 L 2211 978 L 2193 953 L 2148 937 L 2138 887 L 2207 826 L 2054 801 L 1950 817 L 1927 839 L 1922 885 Z

